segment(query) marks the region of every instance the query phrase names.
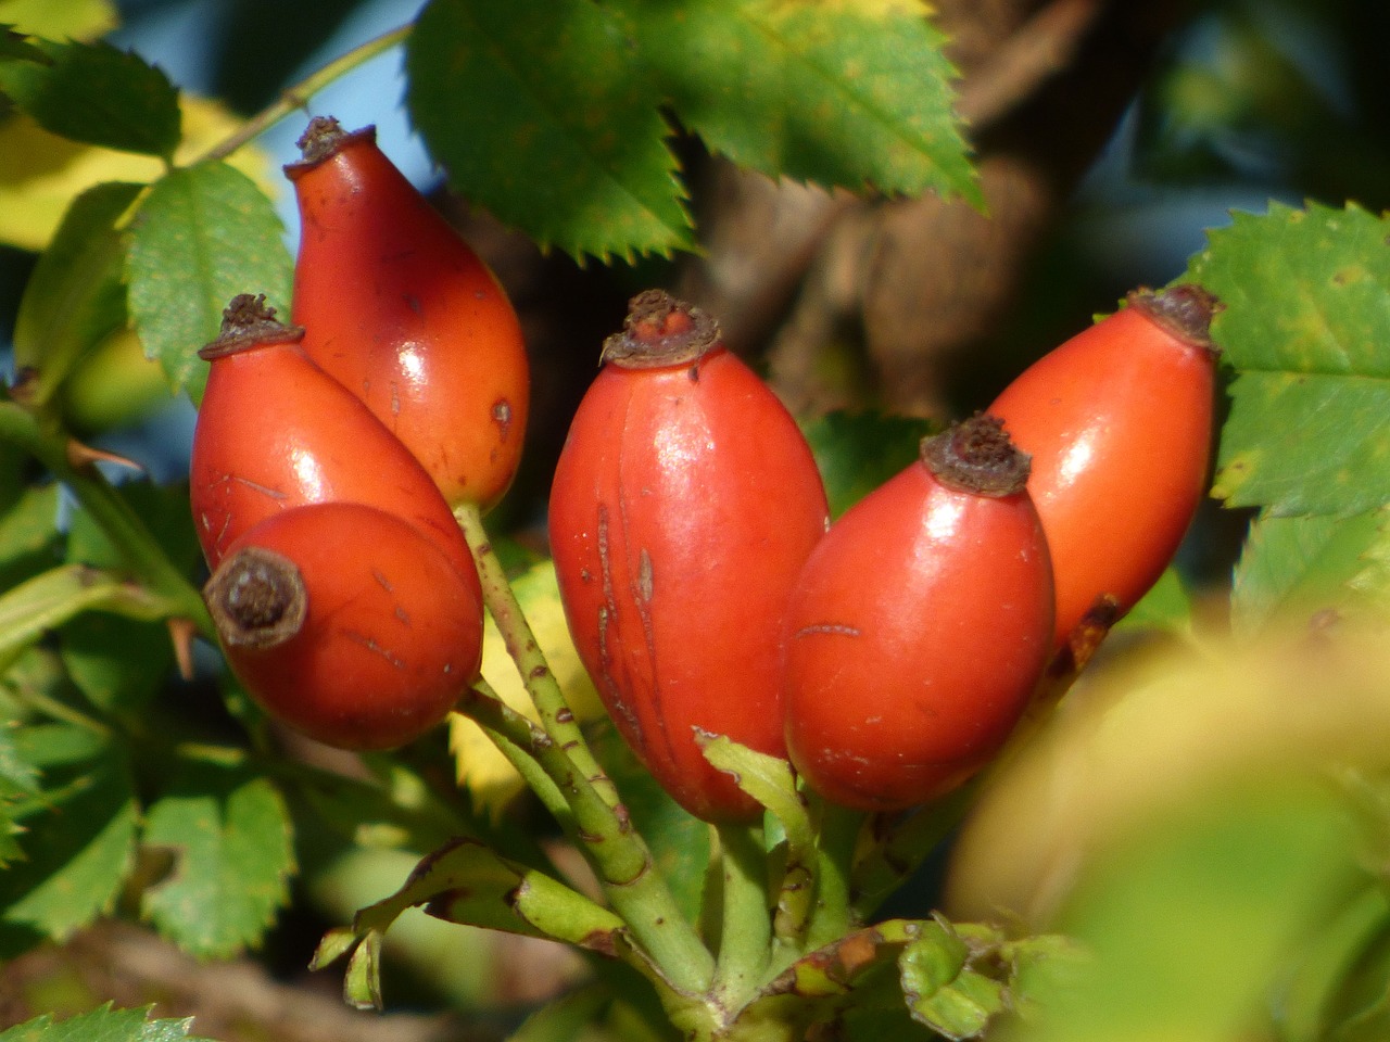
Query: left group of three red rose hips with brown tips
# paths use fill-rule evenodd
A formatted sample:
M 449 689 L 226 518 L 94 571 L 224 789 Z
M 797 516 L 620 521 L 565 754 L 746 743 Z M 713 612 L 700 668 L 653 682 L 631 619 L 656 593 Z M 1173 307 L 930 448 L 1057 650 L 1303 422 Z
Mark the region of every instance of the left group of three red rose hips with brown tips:
M 300 149 L 295 325 L 239 296 L 200 352 L 204 593 L 267 711 L 392 747 L 477 678 L 482 592 L 452 507 L 512 482 L 530 371 L 502 288 L 371 129 L 317 118 Z

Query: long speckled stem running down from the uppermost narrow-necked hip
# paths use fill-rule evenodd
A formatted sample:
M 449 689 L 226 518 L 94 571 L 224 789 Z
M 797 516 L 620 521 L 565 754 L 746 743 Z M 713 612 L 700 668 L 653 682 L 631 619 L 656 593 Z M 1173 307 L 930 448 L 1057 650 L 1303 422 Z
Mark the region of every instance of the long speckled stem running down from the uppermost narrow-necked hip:
M 477 504 L 459 507 L 455 517 L 478 565 L 488 613 L 541 717 L 548 741 L 534 743 L 531 752 L 573 811 L 580 850 L 602 881 L 614 911 L 670 986 L 687 995 L 706 992 L 714 959 L 681 914 L 652 863 L 651 850 L 632 831 L 617 791 L 594 759 L 512 592 Z

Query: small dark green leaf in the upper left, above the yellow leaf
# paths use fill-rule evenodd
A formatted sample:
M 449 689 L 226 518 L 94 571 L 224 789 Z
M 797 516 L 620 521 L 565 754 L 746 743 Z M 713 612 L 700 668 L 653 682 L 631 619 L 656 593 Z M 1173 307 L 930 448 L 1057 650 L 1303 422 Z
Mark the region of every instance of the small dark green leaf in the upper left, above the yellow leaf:
M 108 43 L 36 43 L 51 64 L 0 61 L 0 93 L 70 140 L 170 158 L 182 135 L 178 92 L 139 56 Z

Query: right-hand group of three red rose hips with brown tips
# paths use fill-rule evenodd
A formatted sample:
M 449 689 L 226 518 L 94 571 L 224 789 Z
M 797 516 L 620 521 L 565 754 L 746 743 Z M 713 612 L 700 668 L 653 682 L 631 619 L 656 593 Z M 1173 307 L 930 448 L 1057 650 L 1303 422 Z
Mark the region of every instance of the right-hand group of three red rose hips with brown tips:
M 759 807 L 703 734 L 863 810 L 977 771 L 1049 663 L 1079 664 L 1176 552 L 1211 450 L 1213 307 L 1130 295 L 830 525 L 805 439 L 714 322 L 635 297 L 560 456 L 550 549 L 638 757 L 708 820 Z

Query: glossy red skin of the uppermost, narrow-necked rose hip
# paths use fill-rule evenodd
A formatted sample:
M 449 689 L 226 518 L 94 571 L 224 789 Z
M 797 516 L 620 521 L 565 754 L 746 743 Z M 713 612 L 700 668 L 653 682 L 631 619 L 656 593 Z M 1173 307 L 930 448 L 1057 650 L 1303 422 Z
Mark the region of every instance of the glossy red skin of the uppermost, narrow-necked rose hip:
M 530 407 L 502 286 L 370 133 L 286 168 L 303 221 L 293 322 L 304 350 L 420 458 L 450 506 L 495 504 Z

